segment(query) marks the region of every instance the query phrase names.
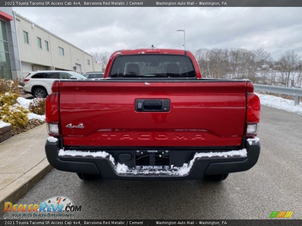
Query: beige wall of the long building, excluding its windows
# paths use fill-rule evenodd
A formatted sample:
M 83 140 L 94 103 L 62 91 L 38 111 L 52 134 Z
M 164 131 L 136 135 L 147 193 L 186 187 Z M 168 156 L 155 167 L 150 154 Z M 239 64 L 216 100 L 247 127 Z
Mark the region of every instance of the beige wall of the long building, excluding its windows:
M 73 70 L 76 64 L 81 65 L 81 71 L 93 72 L 101 71 L 101 66 L 93 62 L 91 55 L 72 46 L 70 43 L 59 37 L 49 34 L 48 31 L 32 23 L 22 16 L 16 14 L 18 41 L 20 48 L 20 58 L 22 62 L 35 65 L 42 65 L 47 68 L 54 66 L 58 69 Z M 24 42 L 23 31 L 28 33 L 29 44 Z M 37 37 L 41 38 L 42 49 L 38 48 Z M 45 49 L 45 40 L 48 41 L 49 51 Z M 59 47 L 64 49 L 64 56 L 59 55 Z M 88 64 L 87 60 L 90 61 Z

